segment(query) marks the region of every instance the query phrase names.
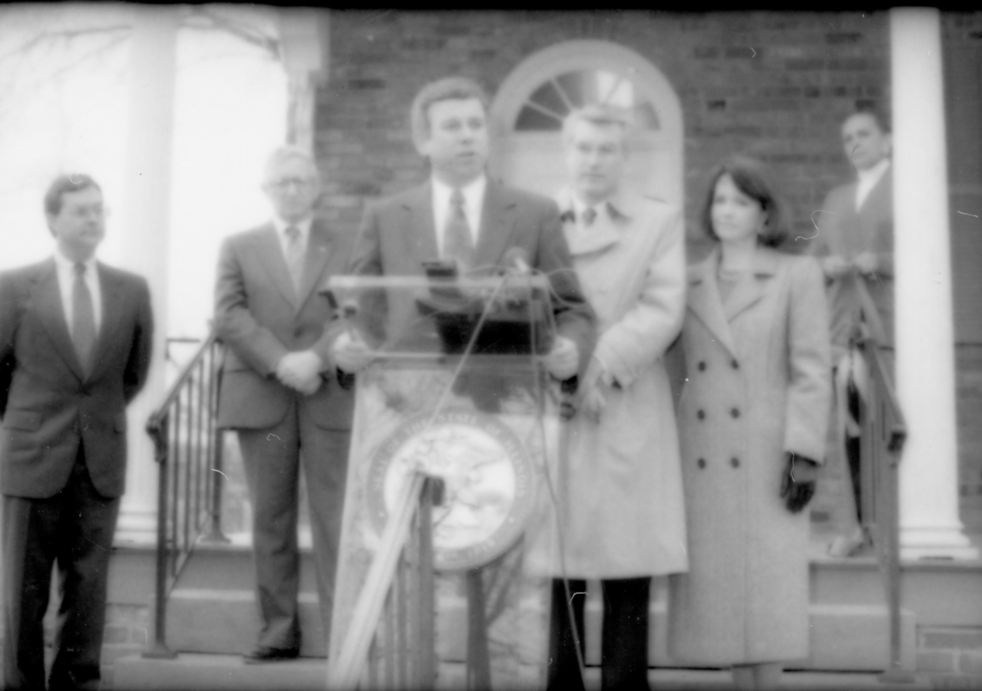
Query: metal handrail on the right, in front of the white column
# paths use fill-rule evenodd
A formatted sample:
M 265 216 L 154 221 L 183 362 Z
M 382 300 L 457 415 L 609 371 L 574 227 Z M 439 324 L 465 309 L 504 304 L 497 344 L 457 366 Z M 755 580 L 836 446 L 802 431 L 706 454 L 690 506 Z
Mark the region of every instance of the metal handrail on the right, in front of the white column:
M 914 675 L 902 667 L 900 630 L 900 458 L 907 428 L 893 373 L 879 343 L 885 338 L 876 307 L 859 285 L 865 323 L 860 324 L 857 345 L 869 369 L 869 386 L 859 406 L 861 498 L 863 527 L 873 536 L 877 562 L 884 581 L 890 612 L 890 663 L 880 676 L 883 682 L 912 682 Z M 870 326 L 872 325 L 872 329 Z

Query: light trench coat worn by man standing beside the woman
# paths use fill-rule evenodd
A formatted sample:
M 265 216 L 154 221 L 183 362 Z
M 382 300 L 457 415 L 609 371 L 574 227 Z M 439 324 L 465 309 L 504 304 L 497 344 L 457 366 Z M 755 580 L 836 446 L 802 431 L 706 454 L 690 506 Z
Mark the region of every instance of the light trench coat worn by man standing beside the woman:
M 571 208 L 569 192 L 560 208 Z M 662 362 L 684 313 L 682 216 L 667 203 L 618 195 L 593 225 L 564 225 L 573 266 L 597 314 L 594 354 L 617 387 L 601 386 L 599 422 L 568 426 L 559 521 L 565 572 L 631 578 L 683 571 L 685 523 L 675 408 Z

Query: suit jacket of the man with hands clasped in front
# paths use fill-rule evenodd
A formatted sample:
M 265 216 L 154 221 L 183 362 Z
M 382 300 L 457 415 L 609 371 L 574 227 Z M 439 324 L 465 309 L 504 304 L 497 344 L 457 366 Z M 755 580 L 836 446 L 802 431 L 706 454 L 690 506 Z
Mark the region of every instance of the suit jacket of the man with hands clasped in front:
M 339 385 L 330 353 L 341 322 L 317 292 L 329 275 L 342 273 L 350 252 L 349 236 L 314 220 L 298 297 L 272 223 L 222 244 L 215 329 L 228 353 L 219 395 L 220 426 L 263 429 L 282 420 L 297 393 L 276 379 L 276 365 L 288 352 L 312 349 L 324 363 L 323 382 L 305 403 L 318 426 L 351 429 L 352 393 Z

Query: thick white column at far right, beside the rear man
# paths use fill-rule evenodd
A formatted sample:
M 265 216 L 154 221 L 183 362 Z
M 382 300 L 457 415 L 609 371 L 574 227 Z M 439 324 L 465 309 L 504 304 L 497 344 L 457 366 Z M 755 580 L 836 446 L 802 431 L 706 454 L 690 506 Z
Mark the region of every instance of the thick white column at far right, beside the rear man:
M 948 160 L 938 10 L 890 11 L 902 558 L 977 558 L 958 518 Z

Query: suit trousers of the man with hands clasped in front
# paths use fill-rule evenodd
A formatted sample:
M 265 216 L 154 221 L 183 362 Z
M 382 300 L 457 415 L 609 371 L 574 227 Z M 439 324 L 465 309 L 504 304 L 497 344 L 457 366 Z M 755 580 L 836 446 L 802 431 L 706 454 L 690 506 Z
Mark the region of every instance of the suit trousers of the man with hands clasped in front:
M 302 402 L 292 404 L 275 427 L 238 432 L 252 501 L 252 550 L 262 622 L 258 645 L 300 646 L 300 463 L 310 505 L 317 596 L 326 639 L 334 609 L 351 432 L 317 427 Z

